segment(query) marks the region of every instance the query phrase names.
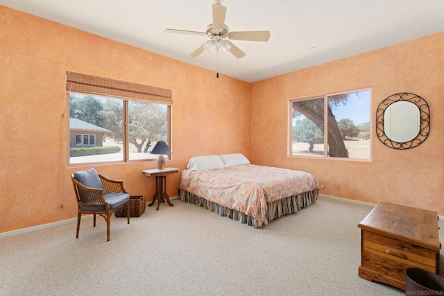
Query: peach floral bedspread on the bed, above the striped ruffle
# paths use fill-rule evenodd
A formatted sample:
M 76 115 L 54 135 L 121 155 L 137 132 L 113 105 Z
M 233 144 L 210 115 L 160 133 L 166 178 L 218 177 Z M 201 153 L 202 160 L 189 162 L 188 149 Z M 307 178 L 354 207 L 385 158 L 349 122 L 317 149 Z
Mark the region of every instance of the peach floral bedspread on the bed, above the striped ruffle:
M 313 191 L 314 175 L 303 171 L 244 164 L 214 171 L 182 171 L 179 189 L 266 224 L 267 203 Z

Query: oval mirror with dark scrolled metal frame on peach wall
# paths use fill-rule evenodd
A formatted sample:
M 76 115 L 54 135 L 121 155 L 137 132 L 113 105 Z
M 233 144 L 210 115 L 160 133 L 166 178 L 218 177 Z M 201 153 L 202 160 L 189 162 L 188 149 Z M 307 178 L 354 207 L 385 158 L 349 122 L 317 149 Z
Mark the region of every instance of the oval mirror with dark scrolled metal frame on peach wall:
M 384 145 L 409 149 L 425 141 L 430 132 L 429 105 L 409 92 L 393 94 L 376 110 L 376 134 Z

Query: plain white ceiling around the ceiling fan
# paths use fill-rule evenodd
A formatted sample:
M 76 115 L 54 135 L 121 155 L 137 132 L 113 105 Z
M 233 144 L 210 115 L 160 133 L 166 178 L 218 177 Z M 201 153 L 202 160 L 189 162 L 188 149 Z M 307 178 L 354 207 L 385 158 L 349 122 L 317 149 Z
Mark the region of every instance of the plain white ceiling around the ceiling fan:
M 246 82 L 372 51 L 444 28 L 444 0 L 225 0 L 230 31 L 271 32 L 268 42 L 232 41 L 246 56 L 189 54 L 214 0 L 0 0 L 0 4 Z M 1 28 L 0 28 L 1 30 Z

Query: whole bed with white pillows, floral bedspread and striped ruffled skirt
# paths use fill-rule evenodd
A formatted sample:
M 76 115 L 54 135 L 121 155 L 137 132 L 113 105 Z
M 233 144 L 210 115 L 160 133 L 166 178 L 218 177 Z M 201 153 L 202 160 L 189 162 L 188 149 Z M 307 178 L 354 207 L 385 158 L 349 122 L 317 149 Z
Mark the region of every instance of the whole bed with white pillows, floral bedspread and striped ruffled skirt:
M 180 200 L 255 228 L 297 213 L 318 198 L 318 182 L 303 171 L 257 166 L 240 153 L 189 159 Z

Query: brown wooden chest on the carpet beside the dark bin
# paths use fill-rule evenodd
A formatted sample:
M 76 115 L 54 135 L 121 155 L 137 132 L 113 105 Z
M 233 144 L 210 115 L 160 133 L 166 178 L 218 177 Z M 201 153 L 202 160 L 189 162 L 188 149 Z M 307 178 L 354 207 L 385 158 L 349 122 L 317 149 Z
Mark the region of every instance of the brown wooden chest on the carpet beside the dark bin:
M 358 227 L 359 277 L 405 290 L 406 268 L 422 268 L 440 275 L 436 212 L 379 202 Z

